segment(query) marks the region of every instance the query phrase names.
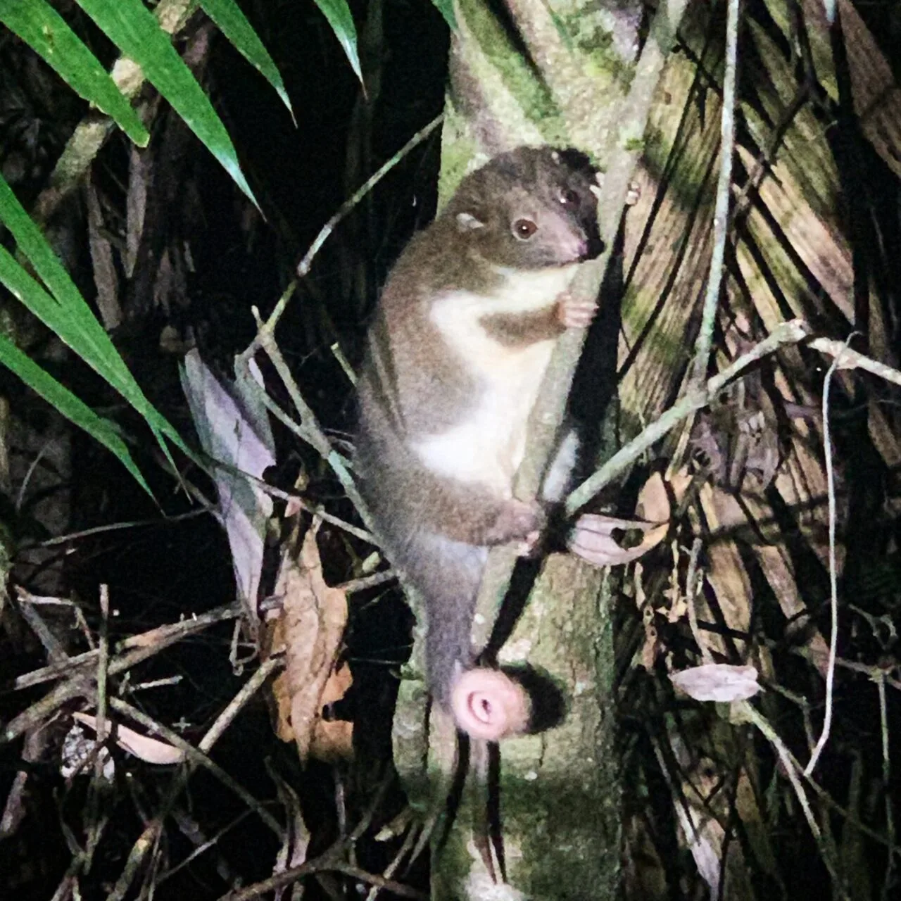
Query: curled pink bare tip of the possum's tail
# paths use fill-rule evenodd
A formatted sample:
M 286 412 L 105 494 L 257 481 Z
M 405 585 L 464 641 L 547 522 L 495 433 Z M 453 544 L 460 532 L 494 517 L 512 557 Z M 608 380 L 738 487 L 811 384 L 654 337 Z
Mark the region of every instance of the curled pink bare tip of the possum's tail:
M 522 683 L 500 669 L 468 669 L 451 691 L 451 711 L 462 732 L 499 742 L 529 728 L 532 705 Z

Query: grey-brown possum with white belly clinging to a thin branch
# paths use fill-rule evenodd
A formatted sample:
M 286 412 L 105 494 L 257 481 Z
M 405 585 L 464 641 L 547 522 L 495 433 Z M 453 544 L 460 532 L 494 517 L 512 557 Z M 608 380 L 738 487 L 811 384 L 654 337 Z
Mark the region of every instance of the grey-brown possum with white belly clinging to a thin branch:
M 527 726 L 523 687 L 474 666 L 470 630 L 491 545 L 534 541 L 541 502 L 513 496 L 526 420 L 555 341 L 590 322 L 569 282 L 602 250 L 595 171 L 521 147 L 469 174 L 406 246 L 383 289 L 359 378 L 355 468 L 388 557 L 423 596 L 432 696 L 464 732 Z M 575 463 L 563 441 L 543 489 Z

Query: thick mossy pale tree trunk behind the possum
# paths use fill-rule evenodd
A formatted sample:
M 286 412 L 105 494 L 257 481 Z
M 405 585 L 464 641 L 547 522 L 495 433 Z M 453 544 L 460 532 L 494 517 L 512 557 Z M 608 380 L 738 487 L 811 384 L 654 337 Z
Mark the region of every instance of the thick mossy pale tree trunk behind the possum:
M 461 0 L 456 12 L 441 201 L 474 160 L 520 144 L 577 147 L 603 168 L 621 137 L 641 5 L 509 0 L 507 23 L 484 0 Z M 511 26 L 522 44 L 511 39 Z M 622 817 L 604 582 L 605 571 L 568 555 L 545 561 L 500 656 L 547 671 L 568 698 L 566 720 L 546 733 L 506 740 L 499 761 L 496 749 L 473 743 L 468 790 L 446 842 L 443 829 L 433 831 L 433 844 L 442 845 L 432 862 L 433 898 L 616 896 Z M 432 711 L 426 753 L 423 696 L 421 683 L 405 681 L 396 762 L 414 805 L 437 817 L 452 782 L 456 737 Z

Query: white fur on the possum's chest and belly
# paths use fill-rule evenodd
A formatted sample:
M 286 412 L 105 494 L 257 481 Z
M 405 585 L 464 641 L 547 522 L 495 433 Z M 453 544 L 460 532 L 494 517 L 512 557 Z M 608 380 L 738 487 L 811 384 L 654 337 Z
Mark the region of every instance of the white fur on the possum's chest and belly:
M 414 451 L 433 472 L 487 487 L 497 496 L 511 496 L 525 452 L 526 422 L 556 341 L 501 344 L 480 320 L 551 306 L 569 287 L 574 270 L 567 266 L 505 271 L 502 287 L 490 296 L 453 291 L 433 303 L 432 323 L 478 385 L 458 423 L 413 442 Z

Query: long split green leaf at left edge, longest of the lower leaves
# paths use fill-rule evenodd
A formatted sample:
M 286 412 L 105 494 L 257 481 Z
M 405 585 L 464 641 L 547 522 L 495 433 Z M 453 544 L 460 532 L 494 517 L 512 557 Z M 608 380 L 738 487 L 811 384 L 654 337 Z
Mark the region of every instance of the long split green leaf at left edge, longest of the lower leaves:
M 19 250 L 29 259 L 53 296 L 47 294 L 3 247 L 0 247 L 0 282 L 144 417 L 173 467 L 175 464 L 163 436 L 194 459 L 176 430 L 144 396 L 110 336 L 97 322 L 41 230 L 25 213 L 2 177 L 0 222 L 9 229 Z

